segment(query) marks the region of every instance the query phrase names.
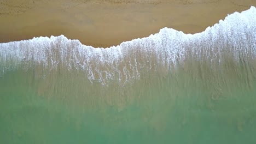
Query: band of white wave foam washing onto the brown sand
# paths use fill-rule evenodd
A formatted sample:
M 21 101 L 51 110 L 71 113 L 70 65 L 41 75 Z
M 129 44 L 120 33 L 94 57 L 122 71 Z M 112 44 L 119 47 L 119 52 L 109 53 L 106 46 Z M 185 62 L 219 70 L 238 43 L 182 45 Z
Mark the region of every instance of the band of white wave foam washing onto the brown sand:
M 255 58 L 256 9 L 234 13 L 204 32 L 184 34 L 171 28 L 147 38 L 126 41 L 107 49 L 82 45 L 79 40 L 40 37 L 0 44 L 0 75 L 8 70 L 43 65 L 47 70 L 64 67 L 84 70 L 90 81 L 107 85 L 139 79 L 142 71 L 171 69 L 185 59 L 221 63 L 223 53 L 239 60 L 241 53 Z

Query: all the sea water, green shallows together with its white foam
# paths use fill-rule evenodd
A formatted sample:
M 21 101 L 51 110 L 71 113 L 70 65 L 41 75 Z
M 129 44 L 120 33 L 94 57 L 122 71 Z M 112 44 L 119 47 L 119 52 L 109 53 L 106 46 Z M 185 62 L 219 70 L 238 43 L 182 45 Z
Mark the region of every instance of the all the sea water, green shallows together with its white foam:
M 107 49 L 0 44 L 0 143 L 256 143 L 256 9 Z

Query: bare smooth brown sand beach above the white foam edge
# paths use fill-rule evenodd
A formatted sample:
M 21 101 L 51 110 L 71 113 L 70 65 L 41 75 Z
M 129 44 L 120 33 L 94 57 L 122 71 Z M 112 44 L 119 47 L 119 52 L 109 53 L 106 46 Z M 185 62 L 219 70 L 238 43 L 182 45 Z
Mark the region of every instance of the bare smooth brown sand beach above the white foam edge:
M 169 27 L 202 32 L 255 0 L 0 0 L 0 43 L 65 35 L 109 47 Z

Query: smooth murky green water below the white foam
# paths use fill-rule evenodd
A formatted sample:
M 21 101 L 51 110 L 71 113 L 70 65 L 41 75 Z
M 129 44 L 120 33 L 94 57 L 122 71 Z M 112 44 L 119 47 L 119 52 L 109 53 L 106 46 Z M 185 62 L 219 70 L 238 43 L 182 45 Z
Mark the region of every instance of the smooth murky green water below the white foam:
M 0 78 L 0 143 L 255 143 L 255 78 L 242 67 L 177 68 L 125 86 L 13 70 Z

